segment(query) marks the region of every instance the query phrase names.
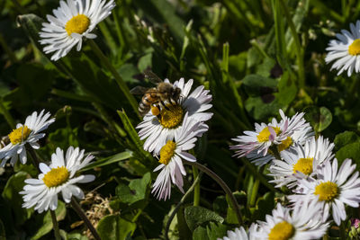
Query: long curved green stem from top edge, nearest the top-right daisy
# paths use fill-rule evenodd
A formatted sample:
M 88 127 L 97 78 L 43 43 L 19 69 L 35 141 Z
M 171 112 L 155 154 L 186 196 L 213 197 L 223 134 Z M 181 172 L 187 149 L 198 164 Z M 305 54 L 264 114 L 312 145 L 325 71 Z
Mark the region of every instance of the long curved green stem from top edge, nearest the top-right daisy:
M 284 0 L 279 0 L 280 4 L 283 7 L 283 12 L 285 14 L 286 20 L 289 24 L 290 31 L 293 34 L 293 40 L 295 42 L 295 51 L 296 51 L 296 59 L 298 64 L 298 74 L 299 74 L 299 87 L 304 88 L 305 86 L 305 68 L 303 65 L 303 53 L 302 53 L 302 45 L 300 43 L 300 39 L 298 33 L 296 32 L 295 25 L 293 24 L 293 18 L 290 15 L 289 9 L 287 5 L 284 3 Z

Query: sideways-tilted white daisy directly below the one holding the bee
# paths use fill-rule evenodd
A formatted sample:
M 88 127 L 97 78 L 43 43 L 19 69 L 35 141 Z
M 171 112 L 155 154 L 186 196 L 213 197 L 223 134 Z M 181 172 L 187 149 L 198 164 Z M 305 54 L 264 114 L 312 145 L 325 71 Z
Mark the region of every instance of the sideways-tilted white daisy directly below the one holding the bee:
M 154 169 L 154 172 L 161 170 L 157 175 L 157 180 L 153 184 L 151 191 L 157 196 L 158 200 L 166 200 L 170 198 L 171 182 L 173 182 L 180 191 L 183 190 L 183 175 L 186 175 L 182 159 L 190 162 L 195 162 L 196 158 L 187 153 L 186 151 L 195 147 L 197 140 L 196 136 L 199 135 L 200 122 L 193 120 L 185 114 L 183 128 L 179 131 L 174 139 L 167 139 L 166 144 L 161 147 L 158 153 L 158 162 L 160 165 Z

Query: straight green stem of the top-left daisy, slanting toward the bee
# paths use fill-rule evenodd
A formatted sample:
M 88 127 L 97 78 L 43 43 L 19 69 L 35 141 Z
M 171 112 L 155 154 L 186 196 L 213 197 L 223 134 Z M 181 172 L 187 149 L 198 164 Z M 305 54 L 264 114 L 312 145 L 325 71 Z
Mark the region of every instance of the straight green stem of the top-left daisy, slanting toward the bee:
M 128 86 L 125 84 L 119 73 L 116 71 L 115 67 L 112 66 L 112 63 L 110 62 L 109 58 L 106 58 L 105 55 L 103 55 L 103 51 L 97 46 L 94 40 L 88 40 L 88 42 L 91 49 L 93 49 L 94 54 L 96 54 L 96 56 L 100 58 L 100 61 L 103 63 L 103 65 L 112 73 L 112 76 L 115 78 L 115 81 L 119 85 L 122 93 L 130 102 L 133 111 L 135 111 L 140 118 L 138 111 L 138 107 L 139 107 L 138 102 L 135 100 L 134 96 L 130 94 L 130 90 Z

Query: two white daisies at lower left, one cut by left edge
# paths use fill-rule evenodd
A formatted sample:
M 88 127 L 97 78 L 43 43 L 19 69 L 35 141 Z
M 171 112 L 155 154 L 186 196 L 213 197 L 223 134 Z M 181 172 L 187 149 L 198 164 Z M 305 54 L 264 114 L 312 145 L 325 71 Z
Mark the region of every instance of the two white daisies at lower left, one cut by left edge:
M 44 130 L 55 121 L 50 118 L 50 113 L 34 111 L 25 120 L 24 124 L 17 124 L 16 129 L 8 134 L 8 144 L 0 149 L 1 166 L 9 160 L 14 166 L 20 158 L 21 164 L 26 164 L 27 153 L 31 153 L 32 160 L 39 161 L 35 150 L 40 148 L 39 140 L 45 137 Z M 37 179 L 26 179 L 23 191 L 23 208 L 34 207 L 39 213 L 58 207 L 58 193 L 68 203 L 72 196 L 84 198 L 84 192 L 76 183 L 92 182 L 94 175 L 76 175 L 77 171 L 84 168 L 94 159 L 94 156 L 84 154 L 85 150 L 78 147 L 68 147 L 66 153 L 59 147 L 52 154 L 49 164 L 35 165 L 40 170 Z M 35 159 L 36 158 L 36 159 Z

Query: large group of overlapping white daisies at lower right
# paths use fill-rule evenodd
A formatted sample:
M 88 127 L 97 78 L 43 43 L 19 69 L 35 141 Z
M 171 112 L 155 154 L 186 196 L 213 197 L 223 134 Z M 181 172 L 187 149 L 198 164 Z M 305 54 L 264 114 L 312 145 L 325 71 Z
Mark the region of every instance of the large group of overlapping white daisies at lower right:
M 315 138 L 304 113 L 292 118 L 280 110 L 281 120 L 255 124 L 255 131 L 245 131 L 233 140 L 235 156 L 247 156 L 258 165 L 266 164 L 275 187 L 286 187 L 288 207 L 278 204 L 266 222 L 258 222 L 246 232 L 229 232 L 248 239 L 317 239 L 329 227 L 329 216 L 336 225 L 346 220 L 346 205 L 358 208 L 360 178 L 350 159 L 338 167 L 329 139 Z M 239 239 L 247 239 L 247 237 Z

